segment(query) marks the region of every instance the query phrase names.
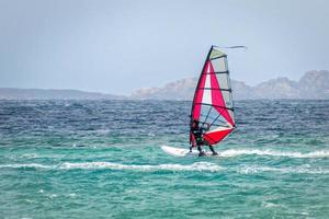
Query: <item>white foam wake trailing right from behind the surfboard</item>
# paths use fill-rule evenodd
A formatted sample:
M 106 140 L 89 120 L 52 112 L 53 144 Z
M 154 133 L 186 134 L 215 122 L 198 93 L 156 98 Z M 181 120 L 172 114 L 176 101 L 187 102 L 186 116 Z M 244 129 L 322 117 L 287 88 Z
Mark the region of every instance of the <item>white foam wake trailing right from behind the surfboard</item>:
M 329 158 L 329 150 L 320 150 L 308 153 L 300 152 L 284 152 L 274 150 L 259 149 L 229 149 L 219 152 L 219 157 L 238 157 L 238 155 L 272 155 L 272 157 L 288 157 L 288 158 Z

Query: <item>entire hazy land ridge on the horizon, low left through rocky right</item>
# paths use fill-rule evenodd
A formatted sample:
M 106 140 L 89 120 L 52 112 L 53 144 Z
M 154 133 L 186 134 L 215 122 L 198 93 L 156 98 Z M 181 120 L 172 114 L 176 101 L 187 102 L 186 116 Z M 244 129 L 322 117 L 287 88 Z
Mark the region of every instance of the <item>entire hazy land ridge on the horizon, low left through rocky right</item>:
M 79 90 L 0 88 L 0 100 L 192 100 L 197 78 L 181 79 L 162 88 L 139 89 L 129 96 Z M 298 81 L 271 79 L 250 87 L 231 80 L 235 100 L 321 99 L 329 100 L 329 71 L 307 71 Z

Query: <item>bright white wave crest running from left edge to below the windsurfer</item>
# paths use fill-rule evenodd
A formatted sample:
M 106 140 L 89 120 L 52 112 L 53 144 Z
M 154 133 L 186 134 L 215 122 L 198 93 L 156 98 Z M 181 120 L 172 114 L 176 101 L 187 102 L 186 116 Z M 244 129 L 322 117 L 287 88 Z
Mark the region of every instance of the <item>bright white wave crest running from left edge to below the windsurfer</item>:
M 135 170 L 135 171 L 207 171 L 207 172 L 218 172 L 224 168 L 216 165 L 211 162 L 195 162 L 190 165 L 166 163 L 158 165 L 137 165 L 137 164 L 121 164 L 112 162 L 80 162 L 80 163 L 70 163 L 65 162 L 58 165 L 43 165 L 38 163 L 29 163 L 29 164 L 4 164 L 0 168 L 12 168 L 12 169 L 55 169 L 55 170 Z

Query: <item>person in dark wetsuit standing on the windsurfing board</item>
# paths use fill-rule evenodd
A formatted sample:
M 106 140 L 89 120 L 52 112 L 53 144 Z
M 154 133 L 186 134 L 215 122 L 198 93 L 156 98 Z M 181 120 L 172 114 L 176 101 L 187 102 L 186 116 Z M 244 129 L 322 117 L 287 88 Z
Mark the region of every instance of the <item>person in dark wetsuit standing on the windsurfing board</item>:
M 190 147 L 190 152 L 192 152 L 193 147 L 197 147 L 198 150 L 198 157 L 206 155 L 205 152 L 202 150 L 202 146 L 208 145 L 207 142 L 204 141 L 203 139 L 203 132 L 205 130 L 209 129 L 209 124 L 207 124 L 207 128 L 203 128 L 198 126 L 198 120 L 193 120 L 192 126 L 191 126 L 191 132 L 194 137 L 194 140 L 192 141 L 192 146 Z M 211 151 L 213 152 L 213 155 L 217 155 L 218 153 L 214 150 L 212 145 L 208 145 Z

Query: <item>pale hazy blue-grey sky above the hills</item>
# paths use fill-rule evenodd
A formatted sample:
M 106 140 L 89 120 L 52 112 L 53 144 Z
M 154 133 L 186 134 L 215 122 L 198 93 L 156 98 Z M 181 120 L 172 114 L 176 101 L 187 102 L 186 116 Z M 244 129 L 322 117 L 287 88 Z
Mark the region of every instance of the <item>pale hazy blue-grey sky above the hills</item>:
M 249 85 L 329 70 L 327 0 L 0 0 L 0 88 L 131 94 L 198 77 L 212 45 Z

